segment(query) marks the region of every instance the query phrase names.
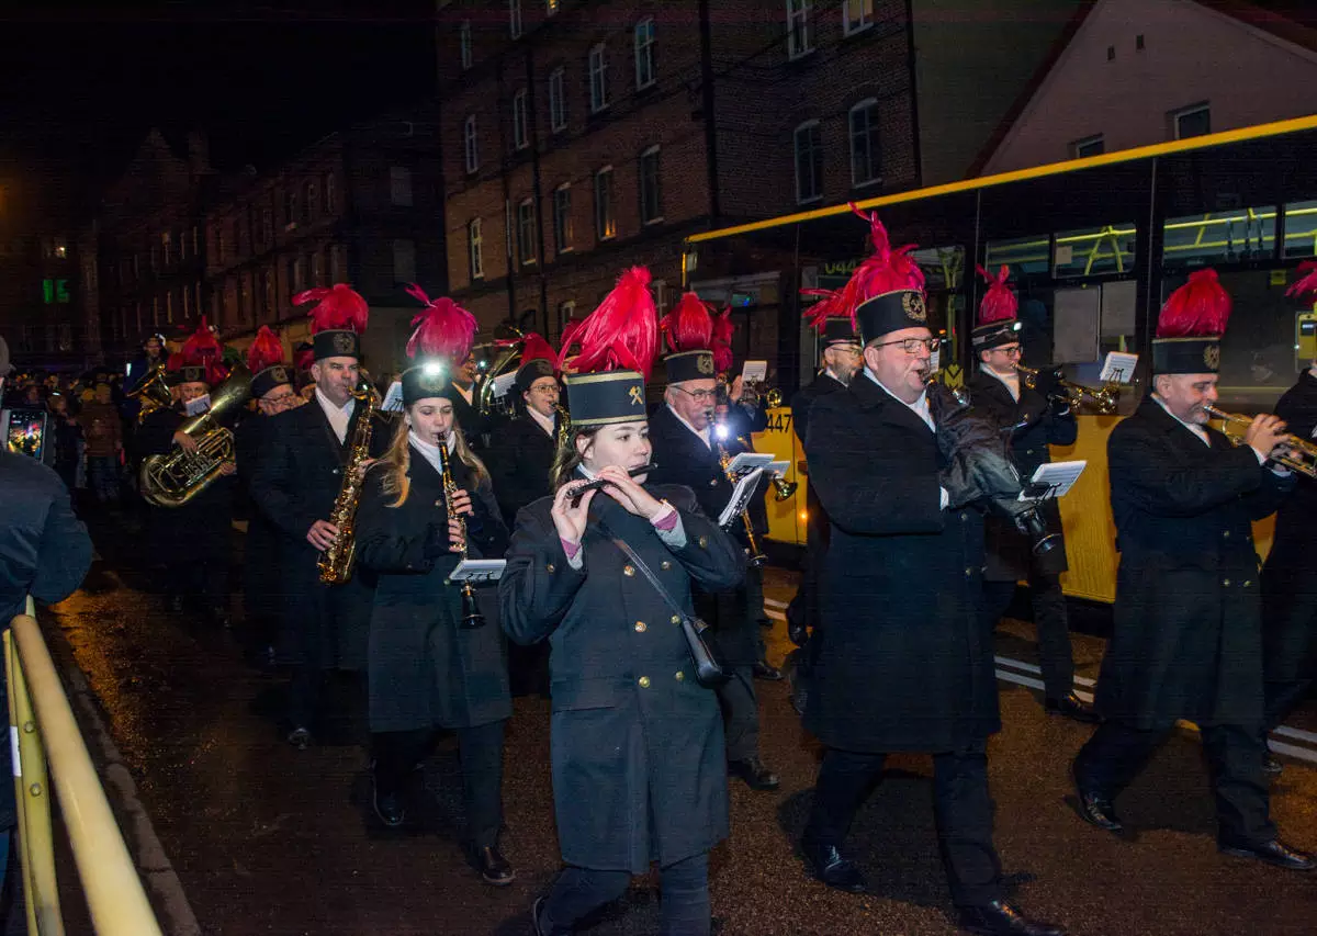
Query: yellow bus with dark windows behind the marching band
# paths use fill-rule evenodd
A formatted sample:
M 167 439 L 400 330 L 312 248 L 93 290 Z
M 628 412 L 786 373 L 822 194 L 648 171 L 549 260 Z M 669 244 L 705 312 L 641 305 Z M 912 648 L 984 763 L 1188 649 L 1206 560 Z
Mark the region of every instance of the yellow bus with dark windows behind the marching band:
M 917 244 L 930 324 L 946 329 L 943 379 L 963 382 L 968 334 L 982 295 L 976 265 L 1011 269 L 1021 299 L 1025 363 L 1060 365 L 1097 384 L 1108 351 L 1139 354 L 1117 416 L 1080 416 L 1079 442 L 1054 457 L 1088 469 L 1062 500 L 1068 595 L 1115 596 L 1106 437 L 1148 386 L 1148 353 L 1166 296 L 1210 266 L 1234 298 L 1222 345 L 1221 407 L 1260 412 L 1317 358 L 1317 312 L 1287 299 L 1304 259 L 1317 257 L 1317 116 L 1144 146 L 1001 175 L 859 200 L 893 244 Z M 738 357 L 768 359 L 789 400 L 815 374 L 815 338 L 801 324 L 801 290 L 834 288 L 867 255 L 868 225 L 848 205 L 740 224 L 686 238 L 684 286 L 732 305 Z M 1151 325 L 1151 328 L 1150 328 Z M 807 466 L 789 409 L 774 409 L 756 448 L 790 462 L 799 487 L 769 500 L 769 538 L 805 536 Z M 1270 523 L 1258 544 L 1270 544 Z

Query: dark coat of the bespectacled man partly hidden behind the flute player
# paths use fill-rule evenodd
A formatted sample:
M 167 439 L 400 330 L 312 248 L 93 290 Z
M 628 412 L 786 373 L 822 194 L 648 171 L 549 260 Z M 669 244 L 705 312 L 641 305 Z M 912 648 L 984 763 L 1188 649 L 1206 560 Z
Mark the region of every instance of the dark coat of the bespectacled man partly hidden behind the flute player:
M 651 481 L 655 484 L 689 487 L 705 516 L 718 523 L 734 490 L 718 461 L 718 449 L 705 445 L 666 404 L 660 404 L 649 417 L 649 442 L 657 465 L 649 475 Z M 743 549 L 748 545 L 740 517 L 732 519 L 728 534 Z M 718 591 L 697 587 L 695 608 L 716 629 L 718 645 L 727 663 L 751 666 L 759 661 L 759 624 L 748 612 L 741 579 Z

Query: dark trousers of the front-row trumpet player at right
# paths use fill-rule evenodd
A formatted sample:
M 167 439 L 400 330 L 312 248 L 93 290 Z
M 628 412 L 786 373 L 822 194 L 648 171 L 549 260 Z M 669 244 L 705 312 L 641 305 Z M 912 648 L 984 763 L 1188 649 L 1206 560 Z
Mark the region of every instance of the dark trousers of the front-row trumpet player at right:
M 1172 731 L 1104 721 L 1075 757 L 1075 782 L 1114 799 Z M 1259 732 L 1241 725 L 1205 725 L 1201 732 L 1217 800 L 1217 837 L 1234 845 L 1271 841 L 1276 827 L 1270 818 L 1271 795 L 1263 774 L 1266 742 Z

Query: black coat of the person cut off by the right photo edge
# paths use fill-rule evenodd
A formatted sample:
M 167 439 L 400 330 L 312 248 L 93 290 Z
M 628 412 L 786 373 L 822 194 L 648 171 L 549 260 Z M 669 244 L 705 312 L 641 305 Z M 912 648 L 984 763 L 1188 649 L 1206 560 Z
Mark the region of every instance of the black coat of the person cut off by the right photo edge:
M 1276 403 L 1288 430 L 1312 440 L 1317 429 L 1317 378 L 1305 370 Z M 1295 682 L 1317 673 L 1317 481 L 1299 475 L 1276 511 L 1276 534 L 1262 567 L 1262 638 L 1268 681 Z

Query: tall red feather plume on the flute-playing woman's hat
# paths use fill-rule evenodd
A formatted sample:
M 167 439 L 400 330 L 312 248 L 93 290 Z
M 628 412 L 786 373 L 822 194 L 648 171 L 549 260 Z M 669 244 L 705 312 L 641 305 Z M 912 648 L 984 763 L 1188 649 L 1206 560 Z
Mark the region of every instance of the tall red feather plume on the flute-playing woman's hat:
M 573 362 L 578 374 L 636 370 L 649 377 L 658 353 L 658 323 L 649 292 L 649 270 L 633 266 L 618 278 L 599 308 L 570 336 L 581 342 Z M 564 342 L 562 350 L 569 345 Z

